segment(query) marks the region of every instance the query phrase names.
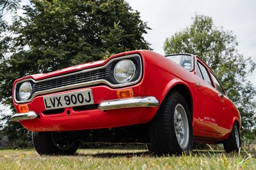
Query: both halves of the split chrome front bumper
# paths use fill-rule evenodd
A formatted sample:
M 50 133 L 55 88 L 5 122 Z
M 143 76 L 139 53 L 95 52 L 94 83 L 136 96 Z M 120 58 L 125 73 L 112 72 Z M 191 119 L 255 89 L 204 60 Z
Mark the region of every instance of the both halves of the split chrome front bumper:
M 99 104 L 100 111 L 108 111 L 113 109 L 125 109 L 133 107 L 158 107 L 159 101 L 156 97 L 133 97 L 125 99 L 106 100 Z M 11 117 L 11 121 L 33 120 L 40 118 L 34 111 L 17 113 Z

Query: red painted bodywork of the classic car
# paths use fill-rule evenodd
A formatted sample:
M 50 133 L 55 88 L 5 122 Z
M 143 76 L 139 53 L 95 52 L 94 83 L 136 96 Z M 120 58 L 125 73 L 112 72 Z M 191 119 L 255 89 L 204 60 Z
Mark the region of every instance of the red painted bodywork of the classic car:
M 218 97 L 218 91 L 215 88 L 209 86 L 204 80 L 195 75 L 196 69 L 193 72 L 188 72 L 188 70 L 185 70 L 170 59 L 149 50 L 124 52 L 111 56 L 111 58 L 107 60 L 72 66 L 51 73 L 29 75 L 22 79 L 46 79 L 62 75 L 63 73 L 102 66 L 113 58 L 134 53 L 140 54 L 143 61 L 143 78 L 138 84 L 115 89 L 110 88 L 107 85 L 100 85 L 54 94 L 79 91 L 81 89 L 92 89 L 95 104 L 100 104 L 104 100 L 117 98 L 117 90 L 132 88 L 134 97 L 154 96 L 161 104 L 170 89 L 178 84 L 182 84 L 182 86 L 188 89 L 191 95 L 191 102 L 193 105 L 191 113 L 193 114 L 193 134 L 196 137 L 214 137 L 218 140 L 223 140 L 227 139 L 229 136 L 235 121 L 241 126 L 239 112 L 234 104 L 232 104 L 227 96 L 224 98 Z M 197 60 L 200 60 L 200 58 L 195 56 L 194 60 L 194 62 L 196 62 Z M 14 85 L 22 79 L 16 80 Z M 200 84 L 200 87 L 196 86 L 196 82 Z M 30 111 L 40 113 L 40 119 L 20 121 L 20 123 L 28 130 L 85 130 L 136 125 L 140 123 L 148 123 L 148 121 L 152 120 L 158 109 L 158 107 L 140 107 L 134 109 L 116 109 L 104 112 L 99 109 L 73 111 L 72 108 L 65 108 L 65 112 L 61 114 L 45 115 L 42 113 L 42 111 L 45 110 L 43 97 L 44 96 L 38 96 L 28 103 Z M 16 104 L 14 100 L 13 103 L 18 111 L 19 104 Z M 67 114 L 67 111 L 70 111 L 70 114 Z

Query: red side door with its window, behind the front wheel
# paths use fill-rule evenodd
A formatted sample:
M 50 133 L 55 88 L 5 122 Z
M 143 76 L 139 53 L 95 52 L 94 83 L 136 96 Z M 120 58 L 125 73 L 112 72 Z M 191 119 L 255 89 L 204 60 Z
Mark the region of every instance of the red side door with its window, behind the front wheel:
M 214 82 L 212 82 L 211 75 L 207 66 L 197 60 L 196 75 L 200 81 L 201 91 L 201 116 L 200 127 L 198 128 L 198 135 L 204 137 L 218 138 L 223 136 L 225 128 L 225 105 L 223 96 L 215 89 Z

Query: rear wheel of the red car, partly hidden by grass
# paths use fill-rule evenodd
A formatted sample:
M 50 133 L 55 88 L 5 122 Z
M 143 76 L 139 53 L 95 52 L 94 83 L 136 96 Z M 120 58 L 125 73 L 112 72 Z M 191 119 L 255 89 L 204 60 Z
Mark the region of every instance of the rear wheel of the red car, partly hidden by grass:
M 228 137 L 227 140 L 223 141 L 224 149 L 225 151 L 232 152 L 232 151 L 238 151 L 241 147 L 241 139 L 240 139 L 240 133 L 239 133 L 239 126 L 238 123 L 234 123 L 234 126 L 232 128 L 232 131 Z

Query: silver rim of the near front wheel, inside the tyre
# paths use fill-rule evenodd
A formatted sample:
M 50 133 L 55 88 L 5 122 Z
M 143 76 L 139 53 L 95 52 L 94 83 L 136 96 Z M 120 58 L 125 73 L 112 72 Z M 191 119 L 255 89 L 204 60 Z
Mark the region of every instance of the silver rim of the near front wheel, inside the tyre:
M 174 110 L 174 129 L 180 148 L 186 149 L 189 142 L 189 123 L 181 104 L 177 104 Z

